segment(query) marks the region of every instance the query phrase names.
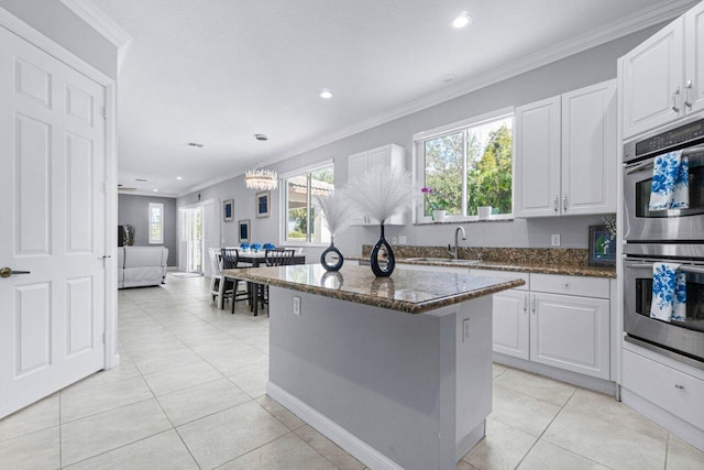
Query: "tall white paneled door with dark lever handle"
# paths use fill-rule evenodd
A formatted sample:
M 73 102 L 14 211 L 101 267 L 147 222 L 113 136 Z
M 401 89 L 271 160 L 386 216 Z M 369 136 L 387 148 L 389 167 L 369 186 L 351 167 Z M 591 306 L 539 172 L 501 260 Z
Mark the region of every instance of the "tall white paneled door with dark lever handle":
M 0 418 L 105 365 L 103 107 L 0 28 Z

